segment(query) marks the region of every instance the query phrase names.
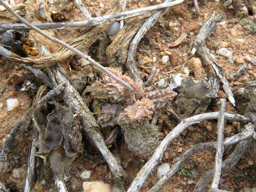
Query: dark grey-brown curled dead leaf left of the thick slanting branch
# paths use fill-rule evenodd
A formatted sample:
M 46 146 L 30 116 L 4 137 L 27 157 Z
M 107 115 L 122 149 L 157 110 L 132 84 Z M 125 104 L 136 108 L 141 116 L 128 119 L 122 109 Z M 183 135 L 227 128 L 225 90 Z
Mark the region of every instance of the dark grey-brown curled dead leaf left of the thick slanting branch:
M 34 110 L 35 128 L 38 132 L 38 154 L 49 153 L 52 149 L 58 147 L 63 141 L 63 149 L 67 156 L 75 156 L 74 147 L 71 139 L 74 136 L 73 111 L 57 102 L 50 102 L 51 105 L 37 106 Z M 54 107 L 55 109 L 52 109 Z

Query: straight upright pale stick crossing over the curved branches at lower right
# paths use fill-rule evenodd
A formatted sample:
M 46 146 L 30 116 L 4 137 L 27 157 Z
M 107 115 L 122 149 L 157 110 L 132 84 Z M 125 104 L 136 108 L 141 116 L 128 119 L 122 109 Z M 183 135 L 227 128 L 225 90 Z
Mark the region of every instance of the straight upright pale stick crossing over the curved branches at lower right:
M 226 109 L 226 99 L 220 99 L 219 101 L 220 115 L 217 123 L 217 149 L 215 154 L 215 168 L 214 168 L 214 177 L 212 180 L 211 189 L 218 189 L 220 177 L 221 177 L 221 164 L 222 164 L 222 155 L 224 152 L 223 146 L 223 134 L 224 134 L 224 113 Z

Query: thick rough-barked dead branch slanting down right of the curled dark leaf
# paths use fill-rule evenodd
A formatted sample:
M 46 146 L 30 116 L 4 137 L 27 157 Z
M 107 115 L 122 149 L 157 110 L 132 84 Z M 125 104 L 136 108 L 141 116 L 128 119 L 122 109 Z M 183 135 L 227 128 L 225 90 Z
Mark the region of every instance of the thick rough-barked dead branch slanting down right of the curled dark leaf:
M 109 149 L 105 145 L 105 141 L 99 133 L 99 125 L 95 121 L 95 118 L 91 114 L 89 108 L 85 105 L 83 99 L 75 88 L 70 84 L 65 75 L 61 73 L 60 66 L 51 67 L 52 75 L 50 77 L 54 79 L 57 84 L 66 83 L 65 91 L 63 92 L 63 99 L 67 105 L 71 107 L 75 113 L 82 119 L 83 128 L 87 134 L 87 137 L 91 139 L 95 147 L 100 151 L 102 156 L 106 159 L 111 172 L 114 175 L 114 179 L 117 183 L 123 185 L 123 179 L 125 178 L 125 172 L 123 168 L 118 164 L 116 158 L 110 153 Z M 53 80 L 52 79 L 52 80 Z M 53 81 L 53 82 L 54 82 Z

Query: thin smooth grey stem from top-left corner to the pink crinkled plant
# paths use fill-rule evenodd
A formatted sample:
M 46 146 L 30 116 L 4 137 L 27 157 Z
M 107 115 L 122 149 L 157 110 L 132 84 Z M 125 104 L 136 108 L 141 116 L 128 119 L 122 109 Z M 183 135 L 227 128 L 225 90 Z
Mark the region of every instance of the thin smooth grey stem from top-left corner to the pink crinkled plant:
M 177 1 L 183 1 L 183 0 L 177 0 Z M 123 86 L 125 86 L 129 92 L 130 92 L 130 96 L 131 96 L 131 100 L 133 102 L 135 102 L 135 95 L 134 95 L 134 91 L 133 88 L 131 87 L 131 85 L 129 85 L 128 83 L 124 82 L 122 79 L 118 78 L 116 75 L 114 75 L 113 73 L 111 73 L 109 70 L 107 70 L 105 67 L 101 66 L 100 63 L 94 61 L 91 57 L 89 57 L 88 55 L 82 53 L 81 51 L 75 49 L 73 46 L 70 46 L 69 44 L 60 41 L 57 38 L 51 37 L 50 35 L 44 33 L 44 31 L 42 31 L 41 29 L 38 29 L 37 27 L 31 25 L 28 21 L 26 21 L 25 19 L 23 19 L 22 17 L 20 17 L 20 15 L 18 15 L 15 11 L 13 11 L 11 9 L 11 7 L 9 7 L 3 0 L 0 0 L 0 3 L 2 3 L 2 5 L 11 13 L 13 14 L 15 17 L 17 17 L 21 22 L 25 23 L 28 27 L 30 27 L 31 29 L 34 29 L 35 31 L 37 31 L 37 33 L 43 35 L 44 37 L 50 39 L 51 41 L 58 43 L 60 45 L 62 45 L 63 47 L 66 47 L 67 49 L 75 52 L 76 54 L 78 54 L 80 57 L 88 60 L 89 62 L 92 63 L 92 65 L 99 69 L 100 71 L 102 71 L 103 73 L 106 73 L 109 77 L 115 79 L 115 81 L 117 81 L 118 83 L 122 84 Z

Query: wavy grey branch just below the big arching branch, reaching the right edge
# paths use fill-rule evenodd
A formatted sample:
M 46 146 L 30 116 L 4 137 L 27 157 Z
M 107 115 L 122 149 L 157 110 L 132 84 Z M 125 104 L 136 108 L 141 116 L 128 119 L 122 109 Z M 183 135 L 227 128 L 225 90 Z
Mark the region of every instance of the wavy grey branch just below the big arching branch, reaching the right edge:
M 238 133 L 224 140 L 223 145 L 225 148 L 233 146 L 235 143 L 249 139 L 254 134 L 254 125 L 252 123 L 248 123 L 245 125 L 245 130 L 242 133 Z M 161 179 L 157 181 L 157 183 L 149 189 L 147 192 L 158 192 L 162 189 L 164 183 L 166 183 L 169 179 L 173 177 L 175 173 L 177 173 L 180 168 L 190 159 L 191 156 L 196 154 L 201 150 L 215 150 L 217 146 L 217 142 L 207 142 L 207 143 L 198 143 L 194 147 L 188 149 L 180 158 L 180 160 L 175 163 L 170 171 L 165 174 Z

